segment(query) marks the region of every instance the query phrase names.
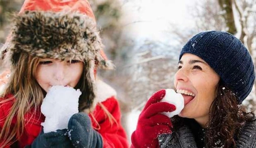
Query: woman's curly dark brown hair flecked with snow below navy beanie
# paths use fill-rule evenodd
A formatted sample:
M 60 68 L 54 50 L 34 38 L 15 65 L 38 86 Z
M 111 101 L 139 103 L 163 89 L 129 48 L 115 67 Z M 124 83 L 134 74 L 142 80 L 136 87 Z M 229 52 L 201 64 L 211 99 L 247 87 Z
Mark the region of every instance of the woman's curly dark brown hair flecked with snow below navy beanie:
M 236 147 L 236 138 L 246 122 L 256 120 L 253 112 L 246 112 L 234 93 L 220 80 L 216 86 L 216 97 L 213 100 L 209 120 L 205 127 L 206 148 Z M 173 130 L 186 124 L 187 118 L 174 116 Z

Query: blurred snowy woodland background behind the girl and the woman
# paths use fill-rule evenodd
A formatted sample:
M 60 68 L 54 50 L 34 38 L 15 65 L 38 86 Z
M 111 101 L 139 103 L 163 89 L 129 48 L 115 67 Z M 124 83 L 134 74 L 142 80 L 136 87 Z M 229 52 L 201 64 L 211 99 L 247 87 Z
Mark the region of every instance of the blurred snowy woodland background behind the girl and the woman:
M 11 14 L 19 11 L 23 1 L 0 0 L 1 44 L 10 30 Z M 89 2 L 105 52 L 116 65 L 115 70 L 99 71 L 98 75 L 117 91 L 129 141 L 147 99 L 157 90 L 173 88 L 179 52 L 194 34 L 230 32 L 244 43 L 256 62 L 256 0 Z M 249 111 L 256 110 L 255 89 L 243 103 Z

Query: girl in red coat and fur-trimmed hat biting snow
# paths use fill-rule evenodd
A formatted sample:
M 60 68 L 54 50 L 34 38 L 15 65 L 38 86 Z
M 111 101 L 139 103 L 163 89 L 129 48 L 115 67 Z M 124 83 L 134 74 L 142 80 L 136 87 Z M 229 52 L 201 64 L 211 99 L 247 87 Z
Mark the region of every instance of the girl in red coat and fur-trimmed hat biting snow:
M 0 52 L 11 71 L 0 98 L 0 147 L 128 147 L 115 91 L 95 80 L 98 66 L 113 65 L 88 1 L 25 0 L 13 23 Z M 80 89 L 82 113 L 68 130 L 43 133 L 40 107 L 54 85 Z

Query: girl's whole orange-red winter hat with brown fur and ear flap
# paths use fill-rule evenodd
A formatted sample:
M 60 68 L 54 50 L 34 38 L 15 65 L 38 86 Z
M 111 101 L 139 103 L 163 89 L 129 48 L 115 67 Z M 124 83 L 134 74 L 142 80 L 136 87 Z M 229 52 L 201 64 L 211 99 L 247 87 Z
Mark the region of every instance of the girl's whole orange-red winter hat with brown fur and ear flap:
M 90 87 L 86 93 L 91 96 L 83 101 L 87 108 L 96 105 L 96 67 L 111 69 L 114 66 L 105 57 L 87 0 L 25 0 L 0 50 L 0 63 L 15 67 L 15 59 L 22 52 L 40 58 L 85 61 L 88 73 L 84 79 Z

